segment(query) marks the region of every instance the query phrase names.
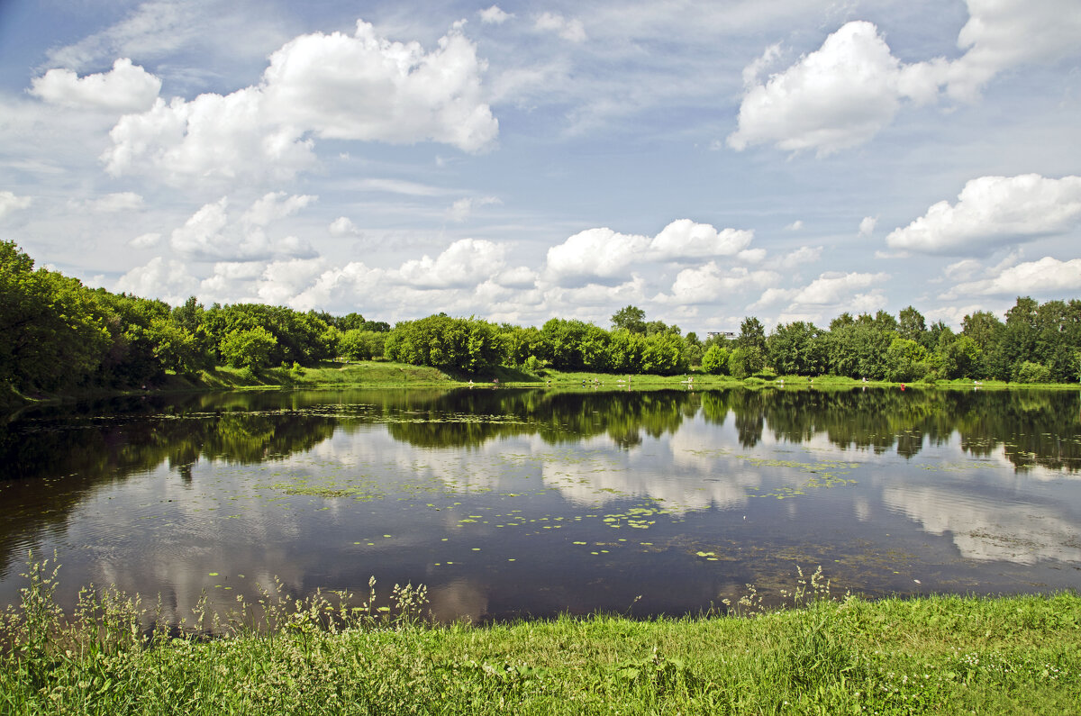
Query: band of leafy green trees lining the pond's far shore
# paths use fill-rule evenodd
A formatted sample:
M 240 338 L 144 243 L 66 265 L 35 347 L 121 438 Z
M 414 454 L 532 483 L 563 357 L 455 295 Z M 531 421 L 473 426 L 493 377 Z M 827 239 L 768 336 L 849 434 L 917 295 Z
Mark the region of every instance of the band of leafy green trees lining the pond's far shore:
M 691 370 L 732 375 L 837 375 L 876 381 L 955 379 L 1011 383 L 1081 380 L 1081 300 L 1018 297 L 999 318 L 964 317 L 960 332 L 927 323 L 909 306 L 830 321 L 793 321 L 766 333 L 755 317 L 734 337 L 703 339 L 646 321 L 626 306 L 611 328 L 552 318 L 542 327 L 437 314 L 366 320 L 283 306 L 183 305 L 91 289 L 46 268 L 12 241 L 0 242 L 0 381 L 4 393 L 154 387 L 166 374 L 218 366 L 257 373 L 268 367 L 388 359 L 477 375 L 496 367 L 620 374 Z

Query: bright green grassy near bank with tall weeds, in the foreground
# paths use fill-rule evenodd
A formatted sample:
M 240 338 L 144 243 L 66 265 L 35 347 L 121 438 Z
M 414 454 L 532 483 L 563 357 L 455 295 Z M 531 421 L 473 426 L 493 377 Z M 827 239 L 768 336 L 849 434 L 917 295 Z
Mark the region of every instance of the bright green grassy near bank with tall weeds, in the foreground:
M 65 622 L 49 575 L 32 573 L 22 616 L 9 612 L 0 634 L 4 714 L 1062 714 L 1081 703 L 1076 594 L 483 627 L 424 623 L 415 589 L 382 609 L 268 597 L 206 639 L 146 636 L 115 592 Z

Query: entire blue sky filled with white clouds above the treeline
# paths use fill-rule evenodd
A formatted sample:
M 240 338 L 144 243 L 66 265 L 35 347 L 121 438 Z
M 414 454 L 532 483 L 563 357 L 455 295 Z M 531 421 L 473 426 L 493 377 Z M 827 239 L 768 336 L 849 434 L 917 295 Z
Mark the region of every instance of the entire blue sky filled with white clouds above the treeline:
M 0 239 L 174 305 L 959 327 L 1079 175 L 1077 0 L 0 0 Z

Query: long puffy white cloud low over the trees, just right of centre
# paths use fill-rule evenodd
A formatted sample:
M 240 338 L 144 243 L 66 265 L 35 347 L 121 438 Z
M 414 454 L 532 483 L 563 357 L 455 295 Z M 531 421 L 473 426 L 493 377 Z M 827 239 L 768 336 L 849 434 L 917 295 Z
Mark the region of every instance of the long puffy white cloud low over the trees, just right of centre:
M 689 218 L 677 220 L 655 237 L 619 234 L 608 227 L 579 231 L 548 250 L 547 274 L 556 281 L 614 279 L 642 262 L 683 261 L 745 254 L 749 261 L 764 254 L 746 253 L 753 231 L 725 228 Z

